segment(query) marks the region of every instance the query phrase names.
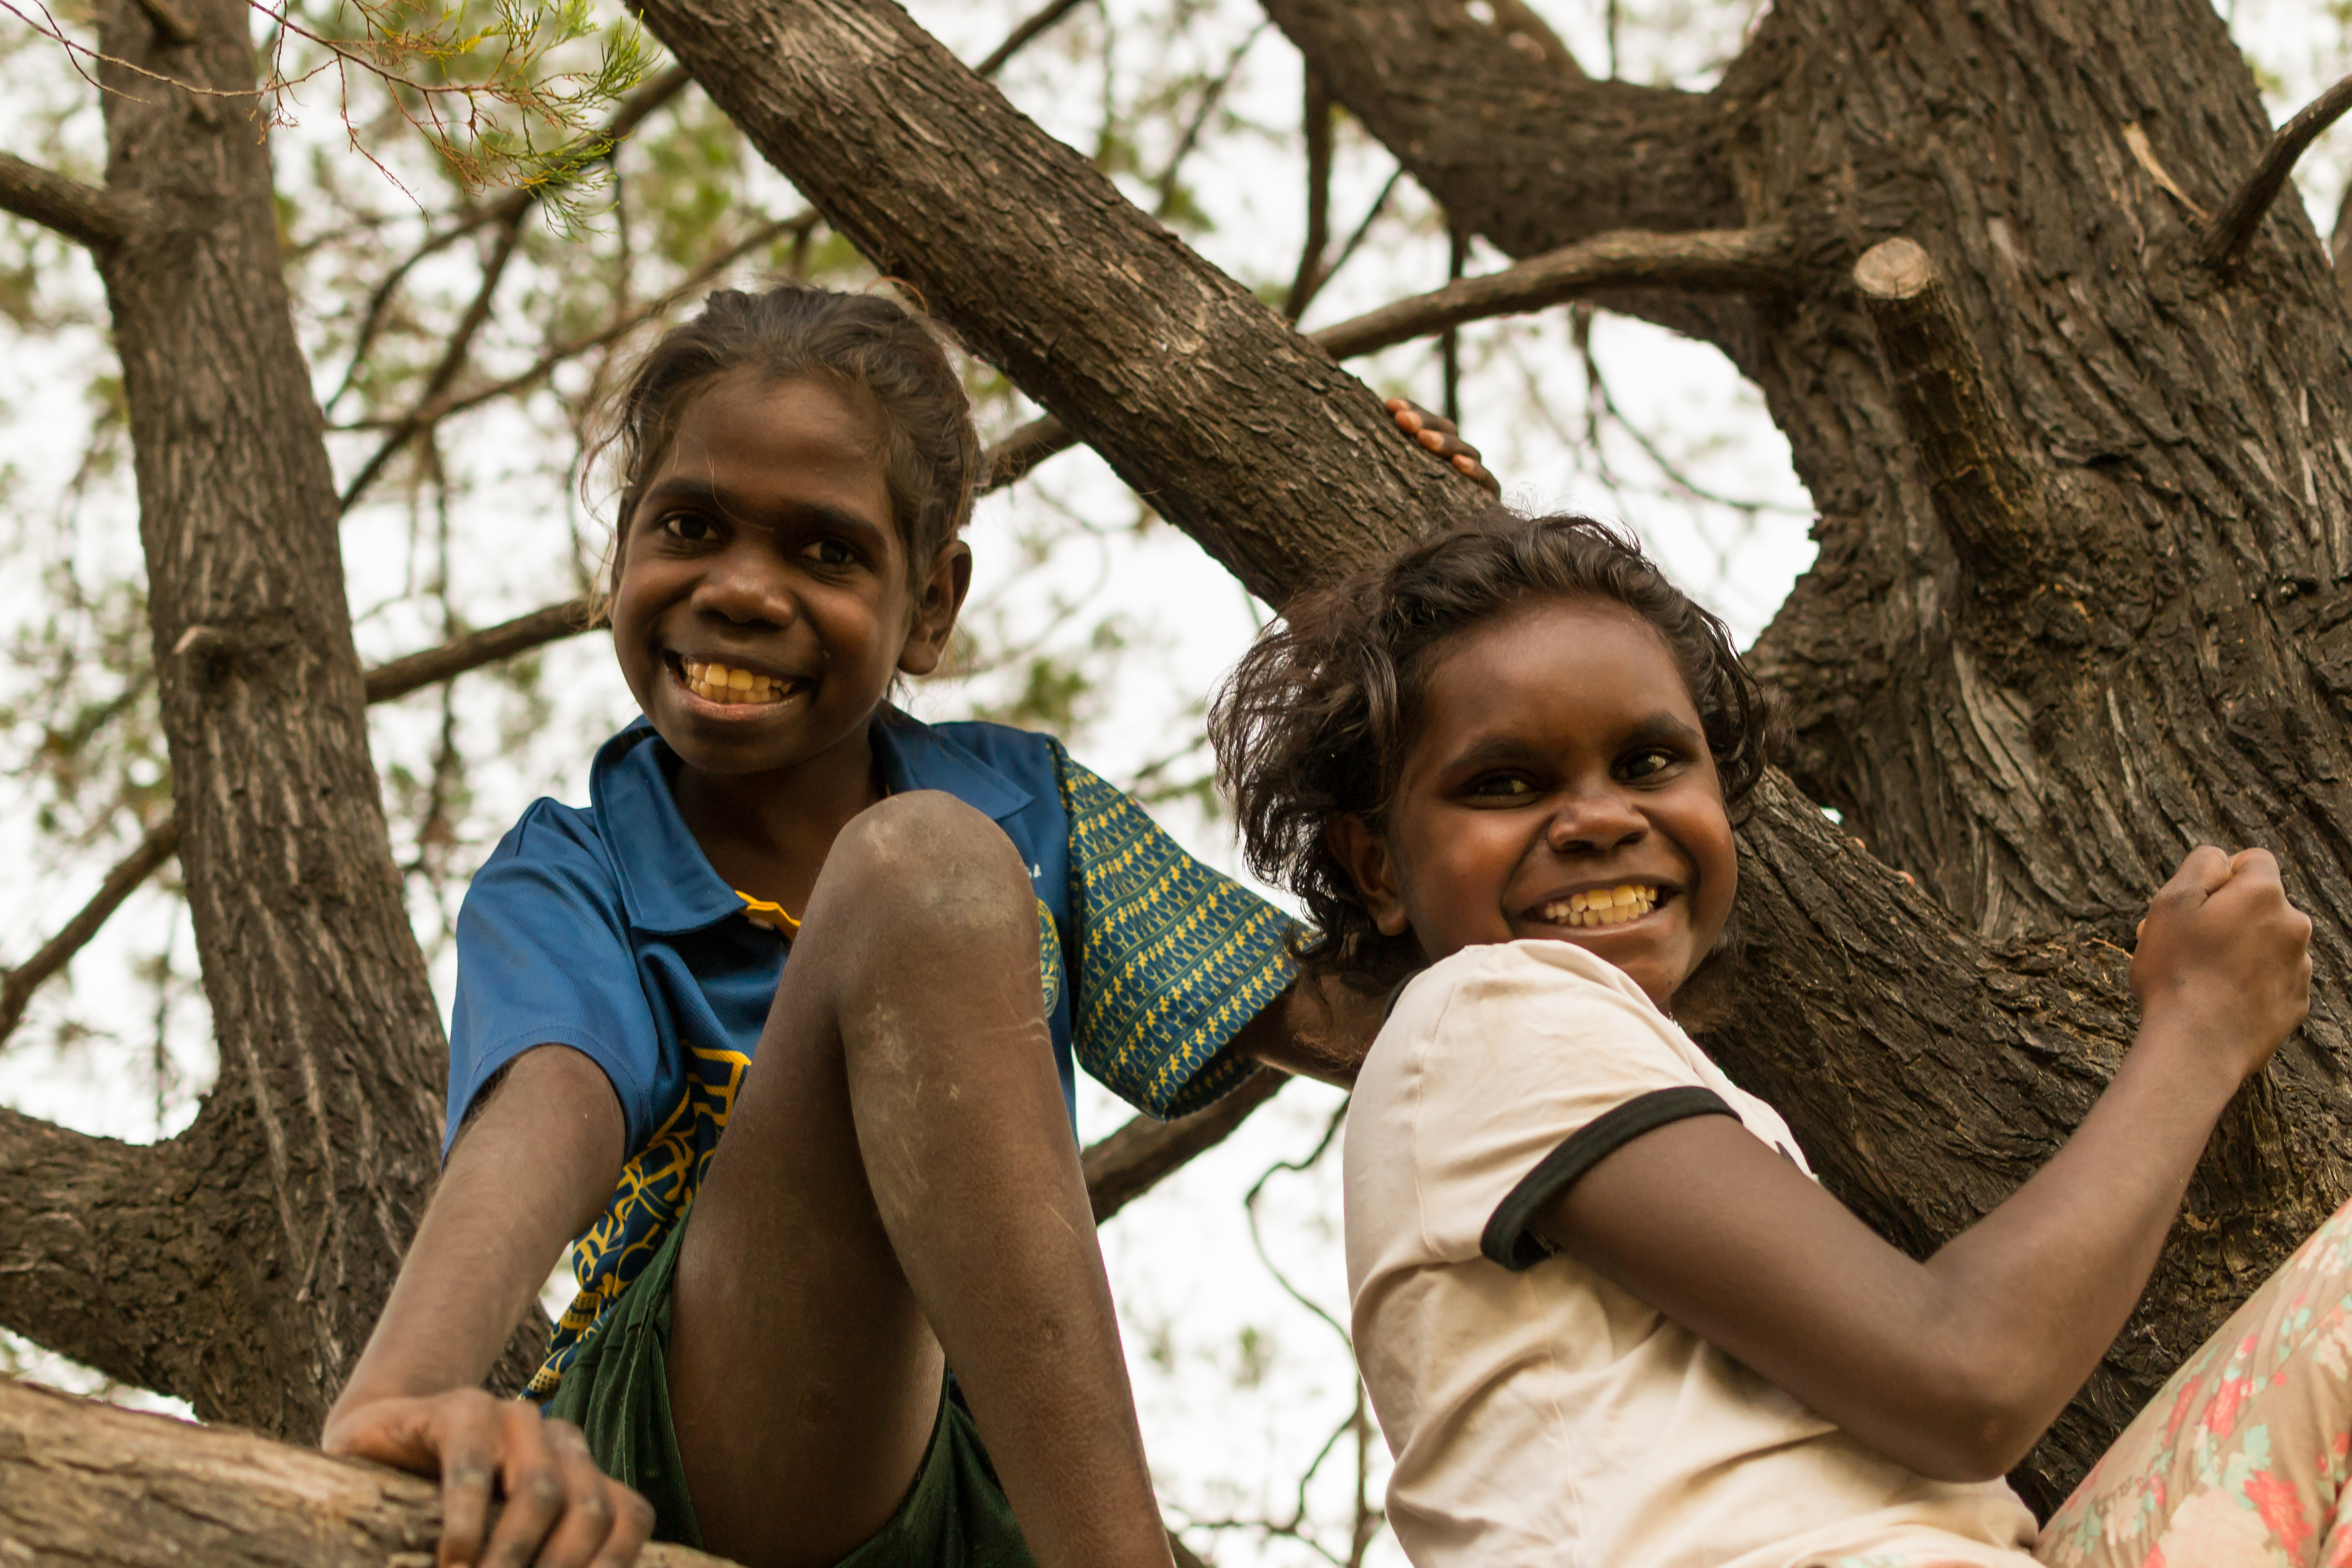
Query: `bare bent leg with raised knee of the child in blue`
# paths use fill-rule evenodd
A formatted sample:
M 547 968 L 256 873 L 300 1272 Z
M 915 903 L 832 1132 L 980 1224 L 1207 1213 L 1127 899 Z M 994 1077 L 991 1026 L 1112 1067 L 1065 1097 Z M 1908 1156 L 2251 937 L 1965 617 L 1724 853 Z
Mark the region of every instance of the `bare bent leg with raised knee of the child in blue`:
M 1011 842 L 901 795 L 835 842 L 680 1251 L 703 1537 L 833 1563 L 896 1512 L 941 1347 L 1044 1568 L 1169 1561 Z

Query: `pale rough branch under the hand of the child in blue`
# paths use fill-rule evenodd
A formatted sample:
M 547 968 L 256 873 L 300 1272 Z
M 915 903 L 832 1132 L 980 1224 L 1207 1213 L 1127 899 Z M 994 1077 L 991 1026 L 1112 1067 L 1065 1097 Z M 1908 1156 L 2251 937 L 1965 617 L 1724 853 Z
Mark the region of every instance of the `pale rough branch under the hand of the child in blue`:
M 0 1380 L 0 1561 L 428 1568 L 430 1481 Z M 724 1559 L 654 1544 L 647 1568 Z

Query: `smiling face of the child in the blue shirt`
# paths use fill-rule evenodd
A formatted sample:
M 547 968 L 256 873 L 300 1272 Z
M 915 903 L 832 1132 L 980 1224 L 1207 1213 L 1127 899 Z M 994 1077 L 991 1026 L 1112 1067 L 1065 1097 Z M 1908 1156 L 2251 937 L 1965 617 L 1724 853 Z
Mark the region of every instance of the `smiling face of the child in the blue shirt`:
M 851 745 L 891 675 L 929 675 L 971 581 L 910 583 L 882 416 L 823 381 L 731 371 L 694 395 L 623 520 L 612 639 L 689 769 L 764 773 Z

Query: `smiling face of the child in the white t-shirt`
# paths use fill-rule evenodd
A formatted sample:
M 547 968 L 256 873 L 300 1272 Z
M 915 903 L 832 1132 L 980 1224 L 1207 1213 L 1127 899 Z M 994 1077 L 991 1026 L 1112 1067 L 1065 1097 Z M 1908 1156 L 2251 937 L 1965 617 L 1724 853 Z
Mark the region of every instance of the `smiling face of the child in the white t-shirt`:
M 1534 599 L 1437 651 L 1383 832 L 1331 827 L 1388 936 L 1437 961 L 1576 943 L 1661 1009 L 1731 914 L 1738 858 L 1665 639 L 1606 599 Z

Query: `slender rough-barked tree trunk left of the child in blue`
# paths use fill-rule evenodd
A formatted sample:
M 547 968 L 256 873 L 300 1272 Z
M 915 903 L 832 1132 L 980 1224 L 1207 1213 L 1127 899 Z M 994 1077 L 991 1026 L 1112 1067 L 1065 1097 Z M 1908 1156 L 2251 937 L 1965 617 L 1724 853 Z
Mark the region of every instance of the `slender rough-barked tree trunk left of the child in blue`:
M 249 92 L 252 14 L 183 16 L 188 45 L 127 0 L 99 7 L 106 195 L 136 223 L 96 259 L 221 1077 L 148 1152 L 5 1121 L 33 1185 L 0 1321 L 49 1319 L 42 1340 L 113 1378 L 308 1436 L 433 1180 L 440 1037 L 367 755 L 268 143 L 242 99 L 129 71 Z

